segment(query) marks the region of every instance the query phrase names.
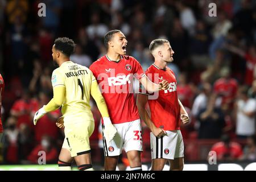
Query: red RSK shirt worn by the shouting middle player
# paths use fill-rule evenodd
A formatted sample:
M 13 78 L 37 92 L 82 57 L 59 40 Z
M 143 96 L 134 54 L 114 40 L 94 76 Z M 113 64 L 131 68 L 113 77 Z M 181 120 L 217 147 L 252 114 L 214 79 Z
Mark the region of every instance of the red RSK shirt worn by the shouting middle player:
M 97 78 L 112 123 L 139 119 L 134 101 L 133 78 L 140 79 L 144 75 L 141 64 L 131 56 L 121 56 L 121 60 L 115 62 L 105 55 L 90 65 L 90 70 Z

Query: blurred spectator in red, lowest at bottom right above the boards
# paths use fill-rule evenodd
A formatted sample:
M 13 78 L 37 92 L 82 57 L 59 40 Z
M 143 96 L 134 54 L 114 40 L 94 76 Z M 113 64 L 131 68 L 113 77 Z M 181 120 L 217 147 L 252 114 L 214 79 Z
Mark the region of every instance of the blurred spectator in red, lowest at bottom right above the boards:
M 222 135 L 221 142 L 215 143 L 210 150 L 216 152 L 219 161 L 237 160 L 243 155 L 240 144 L 230 141 L 228 135 Z

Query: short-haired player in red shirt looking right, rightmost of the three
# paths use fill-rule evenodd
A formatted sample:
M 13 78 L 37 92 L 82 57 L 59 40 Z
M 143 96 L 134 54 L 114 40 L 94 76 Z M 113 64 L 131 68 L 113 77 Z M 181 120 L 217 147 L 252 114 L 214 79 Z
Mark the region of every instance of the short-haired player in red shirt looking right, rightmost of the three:
M 167 80 L 169 89 L 159 91 L 159 97 L 154 98 L 148 92 L 143 92 L 137 97 L 139 114 L 150 128 L 150 143 L 152 156 L 152 170 L 160 171 L 168 160 L 170 170 L 183 170 L 184 144 L 180 132 L 180 120 L 189 122 L 187 111 L 177 97 L 177 81 L 174 72 L 167 67 L 174 59 L 174 51 L 165 39 L 155 39 L 150 44 L 150 52 L 155 58 L 145 74 L 152 82 Z M 145 106 L 148 102 L 151 111 L 149 117 Z

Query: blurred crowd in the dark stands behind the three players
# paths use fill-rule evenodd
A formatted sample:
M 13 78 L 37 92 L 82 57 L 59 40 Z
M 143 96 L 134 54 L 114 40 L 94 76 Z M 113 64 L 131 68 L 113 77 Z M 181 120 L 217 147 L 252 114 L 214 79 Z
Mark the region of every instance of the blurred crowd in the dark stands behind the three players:
M 41 2 L 45 17 L 38 15 Z M 208 14 L 212 2 L 217 16 Z M 56 163 L 64 138 L 55 126 L 60 110 L 32 125 L 35 111 L 52 97 L 53 41 L 73 39 L 71 60 L 89 67 L 106 53 L 103 37 L 113 29 L 126 35 L 127 54 L 144 70 L 153 63 L 150 42 L 170 41 L 175 54 L 168 67 L 191 118 L 181 126 L 185 160 L 196 159 L 193 144 L 206 139 L 214 141 L 209 150 L 219 160 L 255 161 L 255 10 L 255 0 L 0 0 L 0 72 L 6 85 L 0 163 L 37 163 L 41 150 L 47 163 Z M 96 127 L 90 141 L 96 151 L 102 148 L 101 116 L 93 101 L 91 106 Z M 143 124 L 144 158 L 150 158 L 149 132 Z

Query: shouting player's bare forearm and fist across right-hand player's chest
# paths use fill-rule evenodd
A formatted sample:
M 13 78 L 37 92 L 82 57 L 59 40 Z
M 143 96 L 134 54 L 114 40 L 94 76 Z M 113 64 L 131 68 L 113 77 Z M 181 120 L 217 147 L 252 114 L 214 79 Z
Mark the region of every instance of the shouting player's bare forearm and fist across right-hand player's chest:
M 143 76 L 139 81 L 148 92 L 157 92 L 159 90 L 166 90 L 169 88 L 169 84 L 166 80 L 159 82 L 159 84 L 155 84 L 154 82 L 150 81 L 146 75 Z

